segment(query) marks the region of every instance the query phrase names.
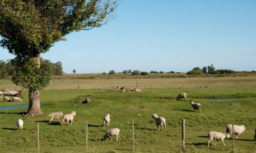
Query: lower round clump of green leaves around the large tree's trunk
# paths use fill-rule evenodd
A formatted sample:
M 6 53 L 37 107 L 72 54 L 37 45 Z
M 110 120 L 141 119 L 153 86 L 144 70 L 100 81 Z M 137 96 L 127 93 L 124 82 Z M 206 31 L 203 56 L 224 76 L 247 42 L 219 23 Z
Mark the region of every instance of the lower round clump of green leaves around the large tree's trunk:
M 12 75 L 14 84 L 30 90 L 41 90 L 50 85 L 51 75 L 48 65 L 42 63 L 38 67 L 38 64 L 33 60 L 26 61 L 26 63 L 20 63 L 15 60 L 14 73 Z

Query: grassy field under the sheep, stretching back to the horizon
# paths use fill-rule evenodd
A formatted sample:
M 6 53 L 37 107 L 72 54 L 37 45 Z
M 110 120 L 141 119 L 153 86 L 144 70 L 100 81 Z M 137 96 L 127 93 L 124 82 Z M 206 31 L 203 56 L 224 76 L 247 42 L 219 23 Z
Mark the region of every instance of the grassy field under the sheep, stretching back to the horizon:
M 169 84 L 175 81 L 184 82 L 182 86 L 177 84 L 174 86 L 174 83 L 162 86 L 165 88 L 146 86 L 143 92 L 119 92 L 112 88 L 122 85 L 136 86 L 138 80 L 116 80 L 115 85 L 111 85 L 114 80 L 98 80 L 98 87 L 83 90 L 67 90 L 52 84 L 41 92 L 44 115 L 23 118 L 23 112 L 27 111 L 26 107 L 0 110 L 0 152 L 37 152 L 37 122 L 40 122 L 41 152 L 85 152 L 85 120 L 89 122 L 89 152 L 132 152 L 132 120 L 135 122 L 137 152 L 182 152 L 182 118 L 186 119 L 186 152 L 233 152 L 233 141 L 229 139 L 225 139 L 227 145 L 225 147 L 221 142 L 215 147 L 207 146 L 208 132 L 225 132 L 225 126 L 232 121 L 246 126 L 246 131 L 235 141 L 235 151 L 256 152 L 256 141 L 253 140 L 256 129 L 255 78 L 182 79 L 177 78 L 169 82 Z M 202 88 L 199 88 L 199 80 L 202 84 L 205 82 L 208 85 L 201 85 Z M 90 81 L 92 80 L 88 82 Z M 217 86 L 209 85 L 210 82 L 215 81 L 218 82 Z M 107 85 L 100 88 L 102 82 Z M 140 82 L 139 85 L 144 84 Z M 194 84 L 197 86 L 192 86 L 190 82 L 196 82 Z M 244 82 L 242 86 L 241 82 Z M 167 80 L 151 80 L 149 84 L 152 83 L 167 84 Z M 70 82 L 63 80 L 62 84 L 70 88 Z M 92 85 L 88 86 L 91 88 Z M 53 90 L 53 88 L 62 90 Z M 175 101 L 175 96 L 179 92 L 186 92 L 188 99 L 201 103 L 203 111 L 193 112 L 188 101 Z M 26 91 L 24 95 L 27 95 Z M 92 103 L 82 104 L 81 99 L 88 96 L 91 97 Z M 207 99 L 213 97 L 238 99 L 231 101 Z M 25 96 L 23 101 L 27 100 Z M 1 102 L 0 106 L 3 105 L 10 103 Z M 64 114 L 76 111 L 73 124 L 70 126 L 61 126 L 59 122 L 49 124 L 48 114 L 57 111 L 62 111 Z M 108 129 L 100 127 L 102 117 L 107 113 L 112 116 L 109 128 L 117 127 L 121 130 L 120 142 L 100 141 Z M 156 131 L 156 125 L 151 118 L 153 113 L 167 119 L 167 131 Z M 18 118 L 25 122 L 22 131 L 16 130 Z

